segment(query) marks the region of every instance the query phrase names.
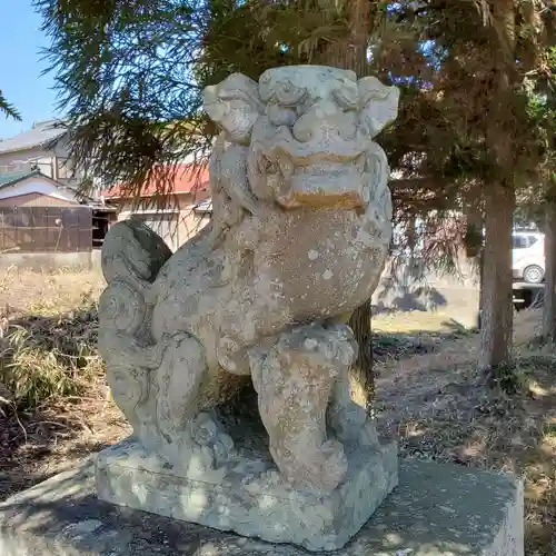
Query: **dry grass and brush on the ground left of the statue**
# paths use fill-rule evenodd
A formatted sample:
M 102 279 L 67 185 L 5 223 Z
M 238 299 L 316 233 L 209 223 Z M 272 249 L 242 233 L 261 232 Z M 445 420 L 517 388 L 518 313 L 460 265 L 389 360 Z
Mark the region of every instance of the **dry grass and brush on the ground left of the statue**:
M 126 436 L 96 353 L 98 272 L 0 282 L 0 499 Z

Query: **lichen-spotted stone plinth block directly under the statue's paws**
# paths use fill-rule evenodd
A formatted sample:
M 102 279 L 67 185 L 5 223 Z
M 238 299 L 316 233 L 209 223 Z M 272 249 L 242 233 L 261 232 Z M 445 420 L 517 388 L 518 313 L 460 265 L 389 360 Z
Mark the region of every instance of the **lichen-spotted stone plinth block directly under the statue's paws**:
M 175 469 L 125 440 L 97 459 L 99 498 L 120 506 L 308 550 L 336 550 L 361 528 L 398 484 L 395 443 L 347 447 L 348 475 L 331 494 L 296 490 L 261 449 L 214 471 Z

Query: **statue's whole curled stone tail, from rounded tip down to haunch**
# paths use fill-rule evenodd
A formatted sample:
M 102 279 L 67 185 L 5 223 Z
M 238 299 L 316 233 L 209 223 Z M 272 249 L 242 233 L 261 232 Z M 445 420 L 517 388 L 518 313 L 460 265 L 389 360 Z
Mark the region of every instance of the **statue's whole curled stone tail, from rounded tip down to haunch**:
M 155 302 L 152 282 L 171 251 L 150 228 L 137 220 L 116 224 L 101 252 L 107 288 L 99 299 L 99 353 L 115 401 L 139 434 L 138 410 L 150 395 L 149 369 L 162 361 L 165 344 L 149 344 Z

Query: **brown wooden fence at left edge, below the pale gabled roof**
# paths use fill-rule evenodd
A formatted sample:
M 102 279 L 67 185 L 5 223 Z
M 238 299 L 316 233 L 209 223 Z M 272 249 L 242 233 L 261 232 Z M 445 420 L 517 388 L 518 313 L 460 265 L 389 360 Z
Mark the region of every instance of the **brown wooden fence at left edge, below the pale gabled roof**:
M 90 207 L 0 207 L 0 252 L 91 250 Z

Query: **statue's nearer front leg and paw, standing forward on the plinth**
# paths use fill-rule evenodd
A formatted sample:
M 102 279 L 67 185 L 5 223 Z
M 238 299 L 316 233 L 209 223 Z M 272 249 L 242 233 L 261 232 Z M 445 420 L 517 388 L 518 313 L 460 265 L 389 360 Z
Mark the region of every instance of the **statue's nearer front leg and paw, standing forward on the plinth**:
M 330 492 L 346 476 L 344 447 L 327 438 L 326 414 L 336 379 L 349 368 L 355 353 L 346 330 L 300 326 L 284 332 L 258 363 L 252 357 L 270 453 L 296 487 Z

